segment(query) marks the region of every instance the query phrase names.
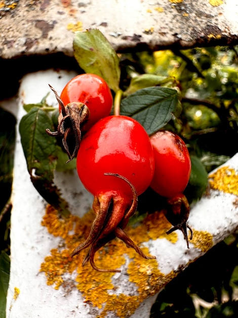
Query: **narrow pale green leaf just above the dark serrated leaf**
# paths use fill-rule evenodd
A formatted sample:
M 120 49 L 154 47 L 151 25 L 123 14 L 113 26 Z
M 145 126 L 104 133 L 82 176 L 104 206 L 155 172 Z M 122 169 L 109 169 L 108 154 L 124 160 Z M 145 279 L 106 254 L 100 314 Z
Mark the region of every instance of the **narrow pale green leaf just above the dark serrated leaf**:
M 129 87 L 124 92 L 125 96 L 134 93 L 135 91 L 152 87 L 156 85 L 164 85 L 166 83 L 174 83 L 175 79 L 172 77 L 160 76 L 155 74 L 142 74 L 132 78 Z

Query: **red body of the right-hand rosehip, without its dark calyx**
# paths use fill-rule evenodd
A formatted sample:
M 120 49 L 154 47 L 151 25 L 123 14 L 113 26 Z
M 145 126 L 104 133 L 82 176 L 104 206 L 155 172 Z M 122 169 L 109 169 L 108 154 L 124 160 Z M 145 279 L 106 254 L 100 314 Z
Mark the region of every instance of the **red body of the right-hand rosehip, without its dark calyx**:
M 191 161 L 186 144 L 169 131 L 157 132 L 150 141 L 155 160 L 150 186 L 161 196 L 173 198 L 183 192 L 190 177 Z

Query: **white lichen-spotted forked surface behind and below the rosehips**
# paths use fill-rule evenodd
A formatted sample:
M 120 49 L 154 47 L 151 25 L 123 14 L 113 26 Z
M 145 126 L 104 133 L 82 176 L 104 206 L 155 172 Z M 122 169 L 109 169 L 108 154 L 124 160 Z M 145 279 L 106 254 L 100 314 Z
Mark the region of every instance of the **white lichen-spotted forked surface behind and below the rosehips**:
M 14 100 L 3 104 L 14 112 L 19 123 L 25 114 L 22 107 L 24 103 L 41 101 L 49 92 L 48 83 L 61 91 L 72 76 L 73 72 L 52 70 L 28 74 L 21 82 L 18 106 Z M 38 87 L 37 90 L 35 87 Z M 57 106 L 52 92 L 47 101 Z M 152 219 L 147 220 L 145 227 L 129 227 L 125 231 L 130 231 L 136 242 L 144 237 L 145 241 L 140 246 L 156 256 L 156 260 L 144 260 L 132 248 L 127 249 L 124 243 L 113 240 L 113 245 L 109 245 L 103 255 L 97 253 L 95 262 L 97 264 L 101 259 L 106 259 L 105 267 L 120 267 L 121 273 L 112 273 L 110 276 L 93 270 L 90 265 L 82 268 L 81 261 L 75 259 L 65 265 L 61 255 L 66 246 L 65 240 L 70 239 L 70 236 L 63 237 L 56 232 L 53 220 L 50 228 L 42 225 L 46 202 L 30 181 L 19 133 L 15 153 L 7 318 L 148 318 L 156 294 L 163 286 L 237 229 L 236 154 L 210 175 L 213 181 L 211 189 L 191 209 L 189 225 L 194 236 L 189 249 L 181 232 L 165 234 L 164 226 L 168 224 L 162 214 L 155 213 L 154 218 L 151 215 Z M 76 171 L 57 173 L 55 183 L 62 190 L 71 212 L 80 218 L 85 213 L 87 215 L 93 198 L 78 180 Z M 85 229 L 91 226 L 89 219 L 82 222 Z M 58 235 L 52 235 L 49 230 Z M 69 235 L 73 235 L 73 231 Z M 114 253 L 111 255 L 113 248 Z M 85 251 L 82 251 L 82 255 L 85 255 Z M 45 272 L 40 271 L 42 264 Z M 74 265 L 72 272 L 69 270 L 71 264 Z M 58 277 L 57 272 L 61 273 Z M 58 289 L 55 289 L 57 285 Z

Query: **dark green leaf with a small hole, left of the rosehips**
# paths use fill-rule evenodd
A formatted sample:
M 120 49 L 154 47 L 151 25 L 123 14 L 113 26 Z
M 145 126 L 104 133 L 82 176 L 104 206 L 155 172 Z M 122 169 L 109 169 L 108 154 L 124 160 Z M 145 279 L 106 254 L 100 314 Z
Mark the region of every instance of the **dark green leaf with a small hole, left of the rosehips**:
M 57 165 L 56 138 L 46 133 L 47 128 L 53 129 L 53 123 L 41 108 L 32 108 L 20 121 L 19 131 L 27 169 L 38 193 L 63 215 L 68 215 L 67 203 L 53 183 Z

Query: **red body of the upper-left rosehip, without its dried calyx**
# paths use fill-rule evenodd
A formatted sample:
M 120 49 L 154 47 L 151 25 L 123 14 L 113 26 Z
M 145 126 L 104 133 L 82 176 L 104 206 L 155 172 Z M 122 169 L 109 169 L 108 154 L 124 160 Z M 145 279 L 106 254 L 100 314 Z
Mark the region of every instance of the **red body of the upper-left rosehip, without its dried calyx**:
M 63 88 L 60 98 L 64 105 L 80 102 L 90 110 L 90 118 L 82 126 L 82 131 L 88 131 L 99 119 L 110 114 L 112 94 L 107 83 L 95 74 L 81 74 L 72 78 Z

